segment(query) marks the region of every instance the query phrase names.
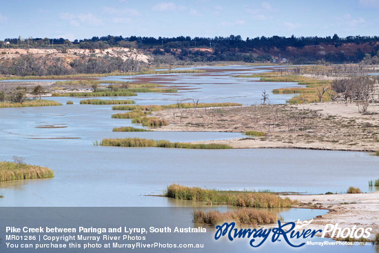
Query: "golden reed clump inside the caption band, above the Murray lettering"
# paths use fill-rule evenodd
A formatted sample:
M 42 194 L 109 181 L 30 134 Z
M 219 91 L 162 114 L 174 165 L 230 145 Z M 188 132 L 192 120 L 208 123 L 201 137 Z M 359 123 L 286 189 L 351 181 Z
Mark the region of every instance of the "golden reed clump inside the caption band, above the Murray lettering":
M 235 222 L 240 225 L 263 225 L 275 223 L 278 216 L 266 210 L 240 208 L 228 212 L 196 210 L 193 213 L 194 223 L 219 225 L 225 222 Z

